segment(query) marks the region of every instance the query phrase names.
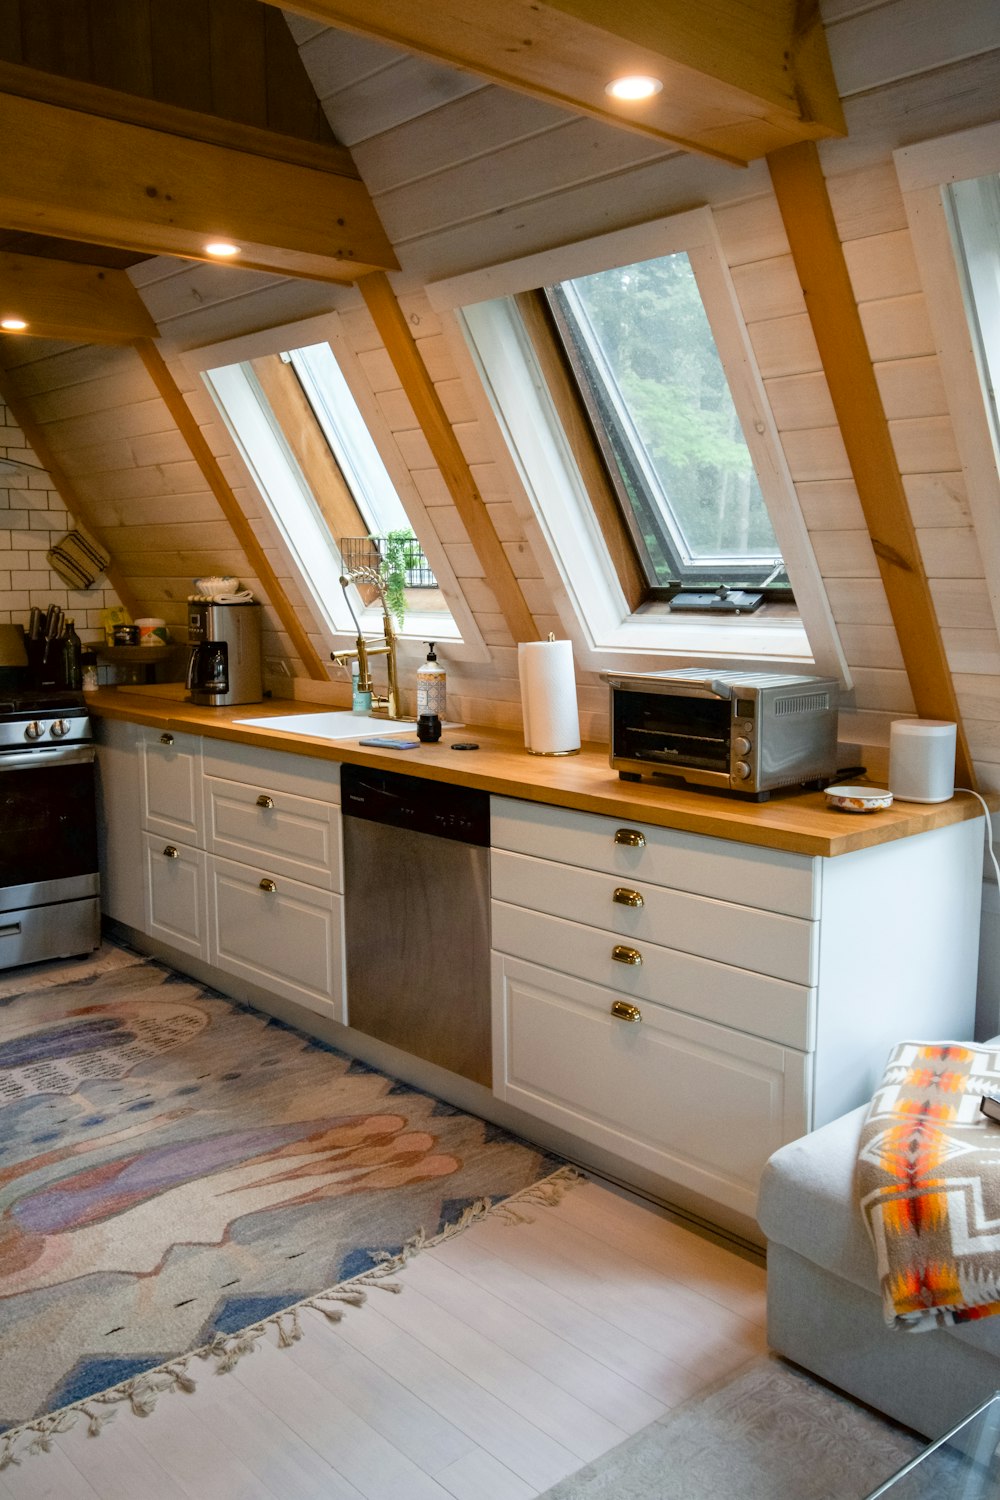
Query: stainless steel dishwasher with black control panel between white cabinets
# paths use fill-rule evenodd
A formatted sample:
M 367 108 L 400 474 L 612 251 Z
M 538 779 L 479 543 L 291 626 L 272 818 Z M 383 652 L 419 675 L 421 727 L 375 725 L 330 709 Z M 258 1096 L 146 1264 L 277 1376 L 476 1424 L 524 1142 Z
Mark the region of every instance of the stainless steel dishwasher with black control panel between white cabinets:
M 343 765 L 348 1023 L 492 1086 L 486 792 Z

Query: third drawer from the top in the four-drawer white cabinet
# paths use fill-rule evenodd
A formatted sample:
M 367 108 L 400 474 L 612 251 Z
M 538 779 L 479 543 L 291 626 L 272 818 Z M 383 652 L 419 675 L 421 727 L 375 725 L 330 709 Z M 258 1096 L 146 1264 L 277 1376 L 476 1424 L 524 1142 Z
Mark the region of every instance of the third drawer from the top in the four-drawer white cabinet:
M 507 902 L 493 902 L 492 920 L 493 948 L 516 958 L 591 980 L 625 1000 L 669 1005 L 805 1052 L 816 1046 L 814 996 L 805 986 L 651 942 L 619 944 L 615 933 L 603 928 Z M 619 945 L 634 948 L 642 963 L 612 958 Z

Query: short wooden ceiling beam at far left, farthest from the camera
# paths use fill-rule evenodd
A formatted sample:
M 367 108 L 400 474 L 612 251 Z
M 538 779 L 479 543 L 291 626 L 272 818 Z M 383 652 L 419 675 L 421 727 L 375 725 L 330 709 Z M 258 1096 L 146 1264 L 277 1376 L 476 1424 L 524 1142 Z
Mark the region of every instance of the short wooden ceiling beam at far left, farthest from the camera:
M 0 318 L 21 318 L 36 338 L 87 344 L 130 344 L 157 332 L 124 272 L 3 250 Z

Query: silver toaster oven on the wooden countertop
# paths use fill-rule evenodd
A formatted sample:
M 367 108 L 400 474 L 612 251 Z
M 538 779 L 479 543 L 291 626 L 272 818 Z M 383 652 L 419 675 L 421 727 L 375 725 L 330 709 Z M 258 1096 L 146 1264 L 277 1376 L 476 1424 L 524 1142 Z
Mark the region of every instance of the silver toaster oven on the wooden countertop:
M 835 678 L 700 668 L 601 676 L 612 766 L 625 782 L 669 776 L 763 801 L 837 772 Z

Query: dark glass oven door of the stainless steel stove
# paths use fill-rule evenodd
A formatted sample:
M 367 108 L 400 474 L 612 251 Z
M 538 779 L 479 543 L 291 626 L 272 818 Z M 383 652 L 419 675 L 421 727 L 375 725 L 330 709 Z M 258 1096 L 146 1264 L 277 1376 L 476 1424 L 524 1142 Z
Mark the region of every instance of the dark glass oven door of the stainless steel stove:
M 96 896 L 93 746 L 0 754 L 0 910 Z

